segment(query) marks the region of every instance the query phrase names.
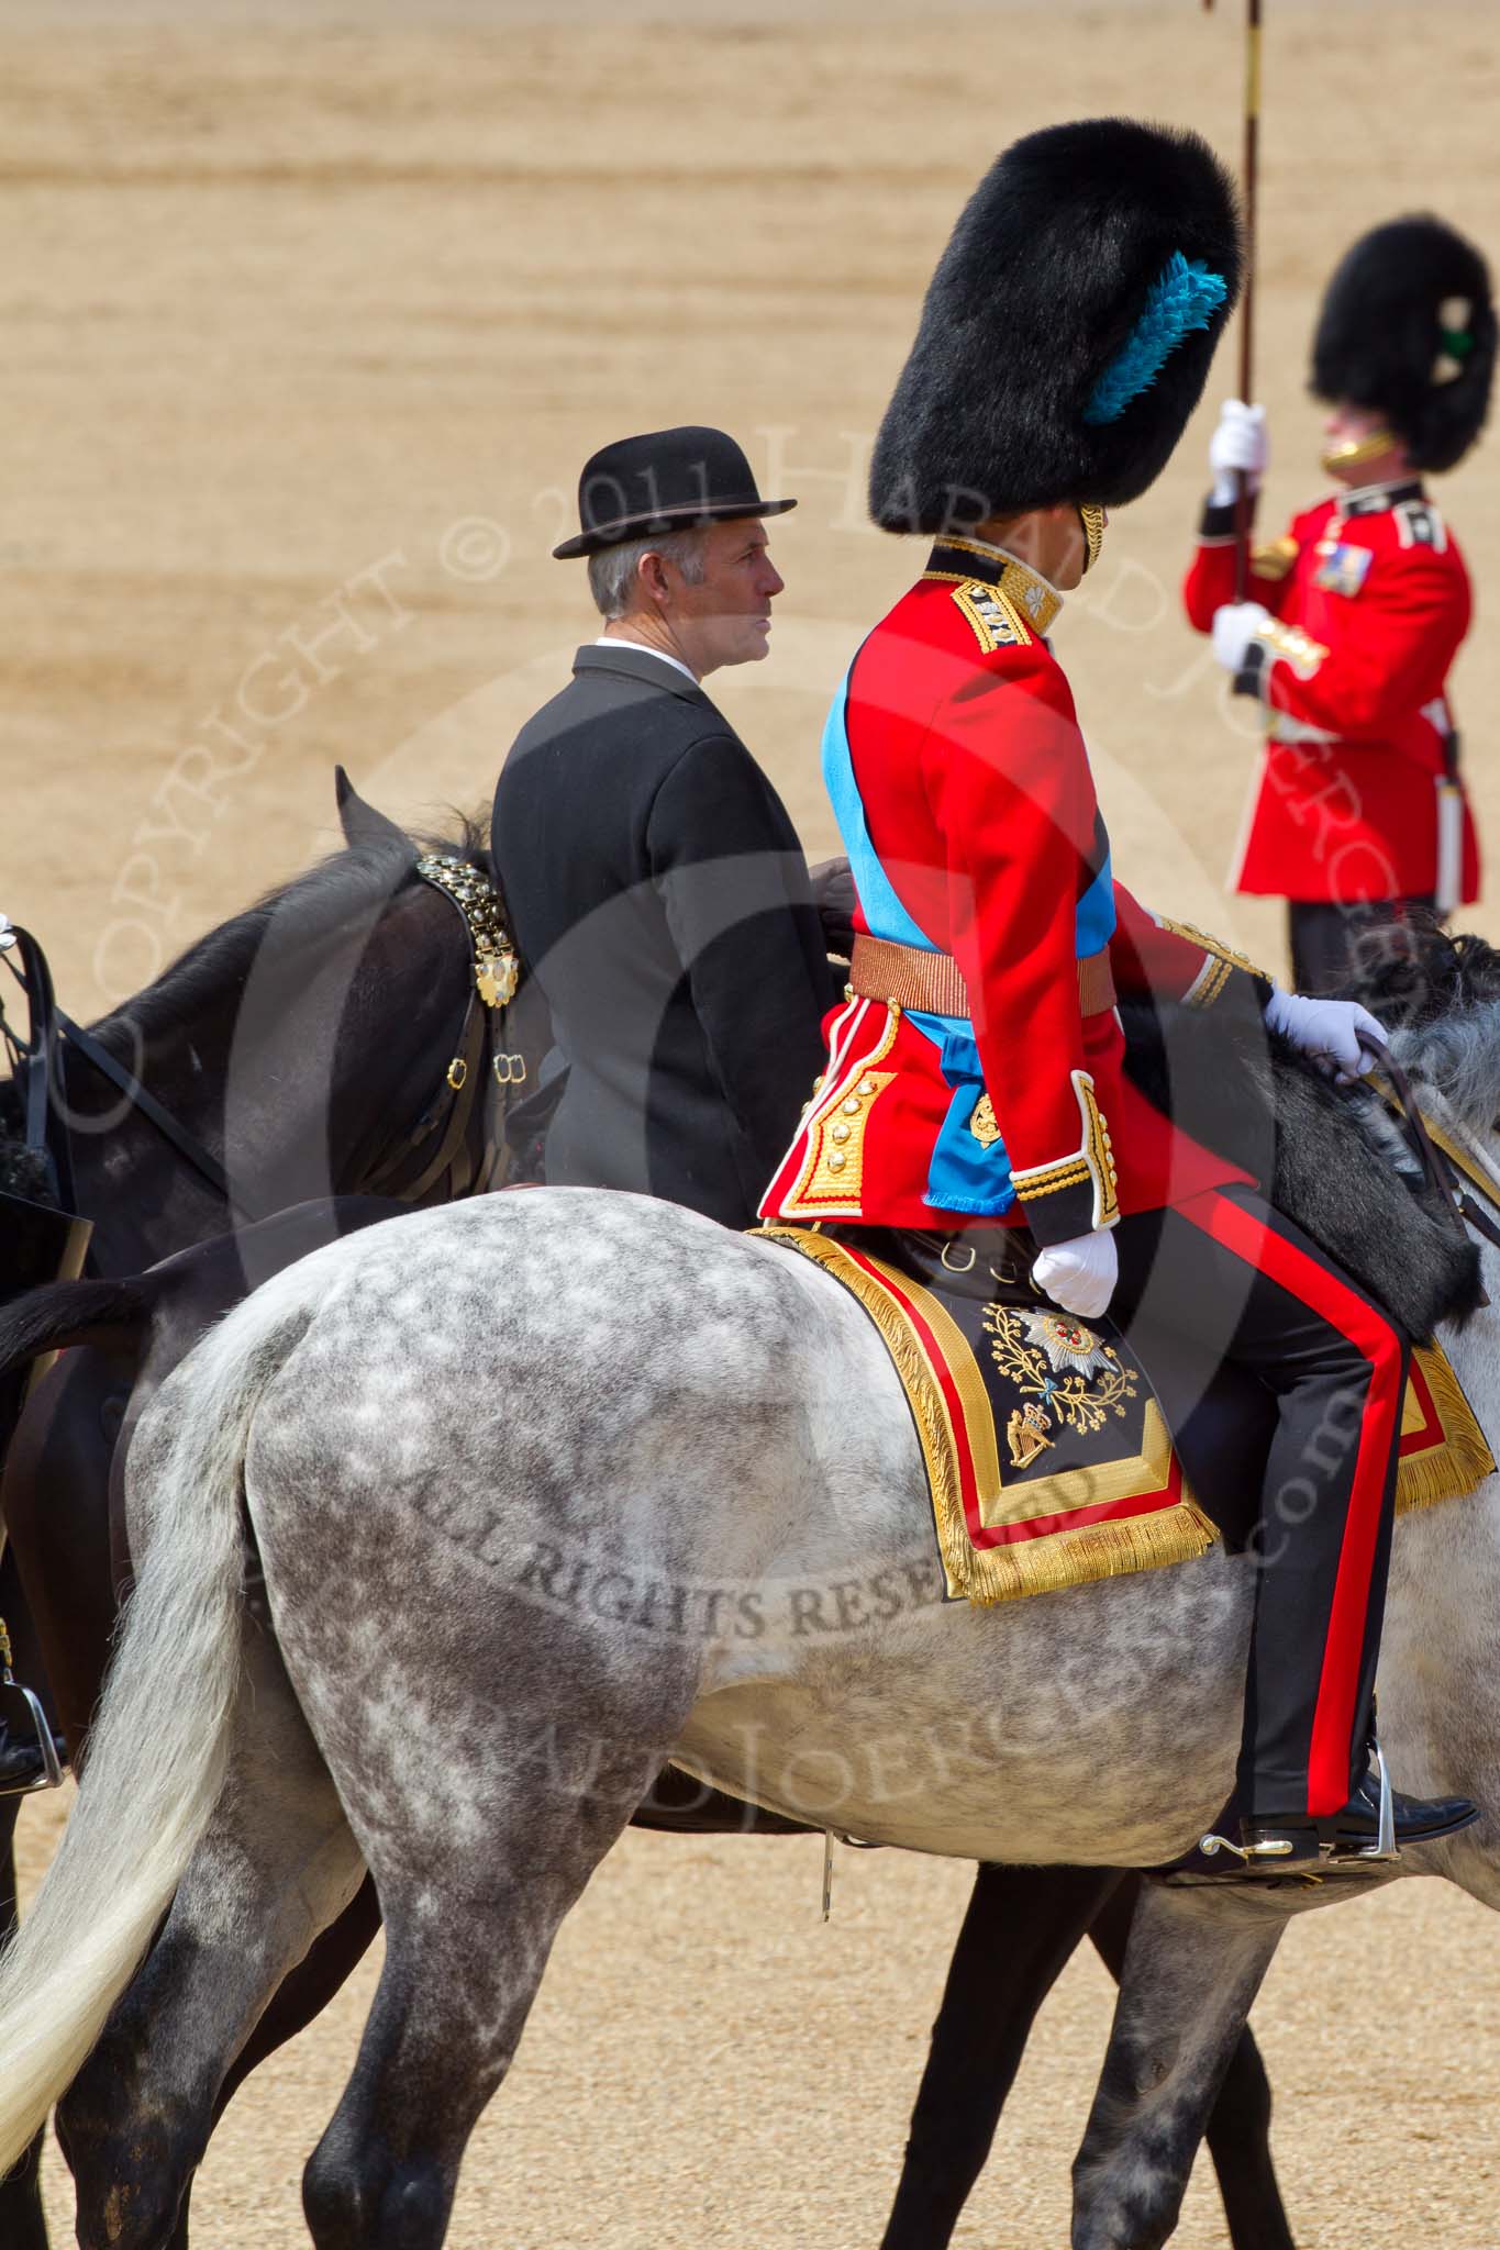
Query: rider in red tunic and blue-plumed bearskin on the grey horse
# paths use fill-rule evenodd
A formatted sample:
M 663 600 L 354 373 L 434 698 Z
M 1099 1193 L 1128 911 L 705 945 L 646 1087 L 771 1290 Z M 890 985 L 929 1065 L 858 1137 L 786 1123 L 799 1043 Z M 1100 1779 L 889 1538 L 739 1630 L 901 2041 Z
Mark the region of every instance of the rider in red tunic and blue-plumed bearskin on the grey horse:
M 1066 1312 L 1149 1318 L 1203 1382 L 1232 1361 L 1275 1395 L 1237 1796 L 1244 1852 L 1293 1870 L 1376 1832 L 1406 1348 L 1244 1172 L 1131 1087 L 1115 994 L 1264 1008 L 1345 1073 L 1379 1026 L 1275 990 L 1113 882 L 1048 639 L 1106 504 L 1172 454 L 1239 266 L 1208 146 L 1129 119 L 1030 135 L 963 214 L 870 470 L 875 522 L 929 554 L 855 652 L 823 742 L 859 893 L 850 986 L 762 1215 L 1023 1226 L 1032 1280 Z M 1316 1444 L 1331 1426 L 1340 1442 Z M 1471 1818 L 1397 1800 L 1408 1840 Z

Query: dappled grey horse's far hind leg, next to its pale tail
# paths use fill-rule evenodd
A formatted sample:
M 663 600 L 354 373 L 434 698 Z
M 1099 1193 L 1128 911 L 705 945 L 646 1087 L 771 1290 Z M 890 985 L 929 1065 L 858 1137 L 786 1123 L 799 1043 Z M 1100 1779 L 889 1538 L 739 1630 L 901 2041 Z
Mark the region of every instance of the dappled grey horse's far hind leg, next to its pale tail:
M 229 1775 L 162 1935 L 58 2106 L 81 2250 L 171 2250 L 220 2086 L 360 1886 L 360 1850 L 270 1638 L 247 1631 Z

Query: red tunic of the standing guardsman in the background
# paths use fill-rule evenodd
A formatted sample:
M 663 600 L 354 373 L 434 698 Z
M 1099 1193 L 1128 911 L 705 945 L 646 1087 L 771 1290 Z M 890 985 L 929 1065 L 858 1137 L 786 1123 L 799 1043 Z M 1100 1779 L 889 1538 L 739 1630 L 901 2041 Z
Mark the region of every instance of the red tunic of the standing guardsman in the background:
M 1199 632 L 1235 601 L 1235 511 L 1208 506 L 1183 598 Z M 1235 691 L 1268 711 L 1239 891 L 1365 904 L 1437 891 L 1437 801 L 1457 736 L 1446 680 L 1469 572 L 1417 479 L 1338 493 L 1250 554 L 1271 610 Z M 1457 902 L 1480 896 L 1462 806 Z

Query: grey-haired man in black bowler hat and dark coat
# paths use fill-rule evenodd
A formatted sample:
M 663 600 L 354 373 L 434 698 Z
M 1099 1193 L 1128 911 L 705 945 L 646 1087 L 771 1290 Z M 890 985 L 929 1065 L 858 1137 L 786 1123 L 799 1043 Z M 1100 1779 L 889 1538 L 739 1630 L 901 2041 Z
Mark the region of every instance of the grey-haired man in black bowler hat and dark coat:
M 760 662 L 783 580 L 722 430 L 605 446 L 576 538 L 603 626 L 515 738 L 493 860 L 567 1064 L 549 1186 L 753 1224 L 823 1053 L 830 965 L 792 819 L 704 693 Z

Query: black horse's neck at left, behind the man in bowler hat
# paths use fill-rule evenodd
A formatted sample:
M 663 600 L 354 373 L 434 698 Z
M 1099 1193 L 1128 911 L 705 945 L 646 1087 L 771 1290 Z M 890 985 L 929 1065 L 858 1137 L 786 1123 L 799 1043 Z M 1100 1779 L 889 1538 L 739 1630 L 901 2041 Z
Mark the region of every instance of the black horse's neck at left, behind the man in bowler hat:
M 445 846 L 475 860 L 472 839 Z M 90 1037 L 229 1179 L 229 1199 L 63 1042 L 94 1262 L 135 1271 L 236 1217 L 360 1192 L 430 1118 L 472 992 L 463 925 L 414 848 L 337 853 L 209 932 Z

